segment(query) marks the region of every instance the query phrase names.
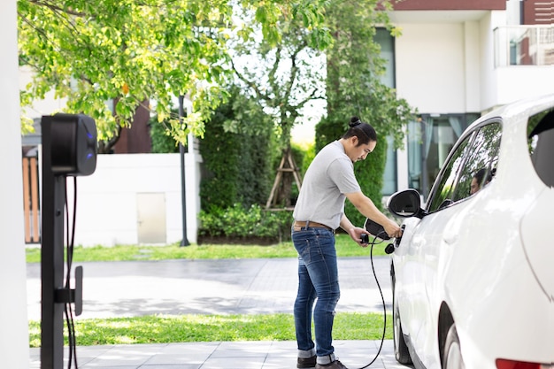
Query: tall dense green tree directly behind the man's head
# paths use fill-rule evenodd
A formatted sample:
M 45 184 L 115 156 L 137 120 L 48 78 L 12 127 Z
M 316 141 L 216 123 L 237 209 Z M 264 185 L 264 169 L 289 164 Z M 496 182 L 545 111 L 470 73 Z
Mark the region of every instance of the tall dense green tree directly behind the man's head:
M 400 35 L 390 24 L 388 1 L 359 0 L 329 3 L 327 25 L 335 38 L 327 50 L 327 117 L 316 127 L 316 150 L 339 138 L 351 116 L 371 124 L 379 135 L 376 150 L 356 165 L 362 191 L 381 207 L 387 137 L 395 148 L 402 147 L 404 127 L 414 117 L 410 105 L 396 96 L 396 90 L 381 82 L 385 61 L 374 41 L 376 26 Z M 347 202 L 345 209 L 355 224 L 363 217 Z

